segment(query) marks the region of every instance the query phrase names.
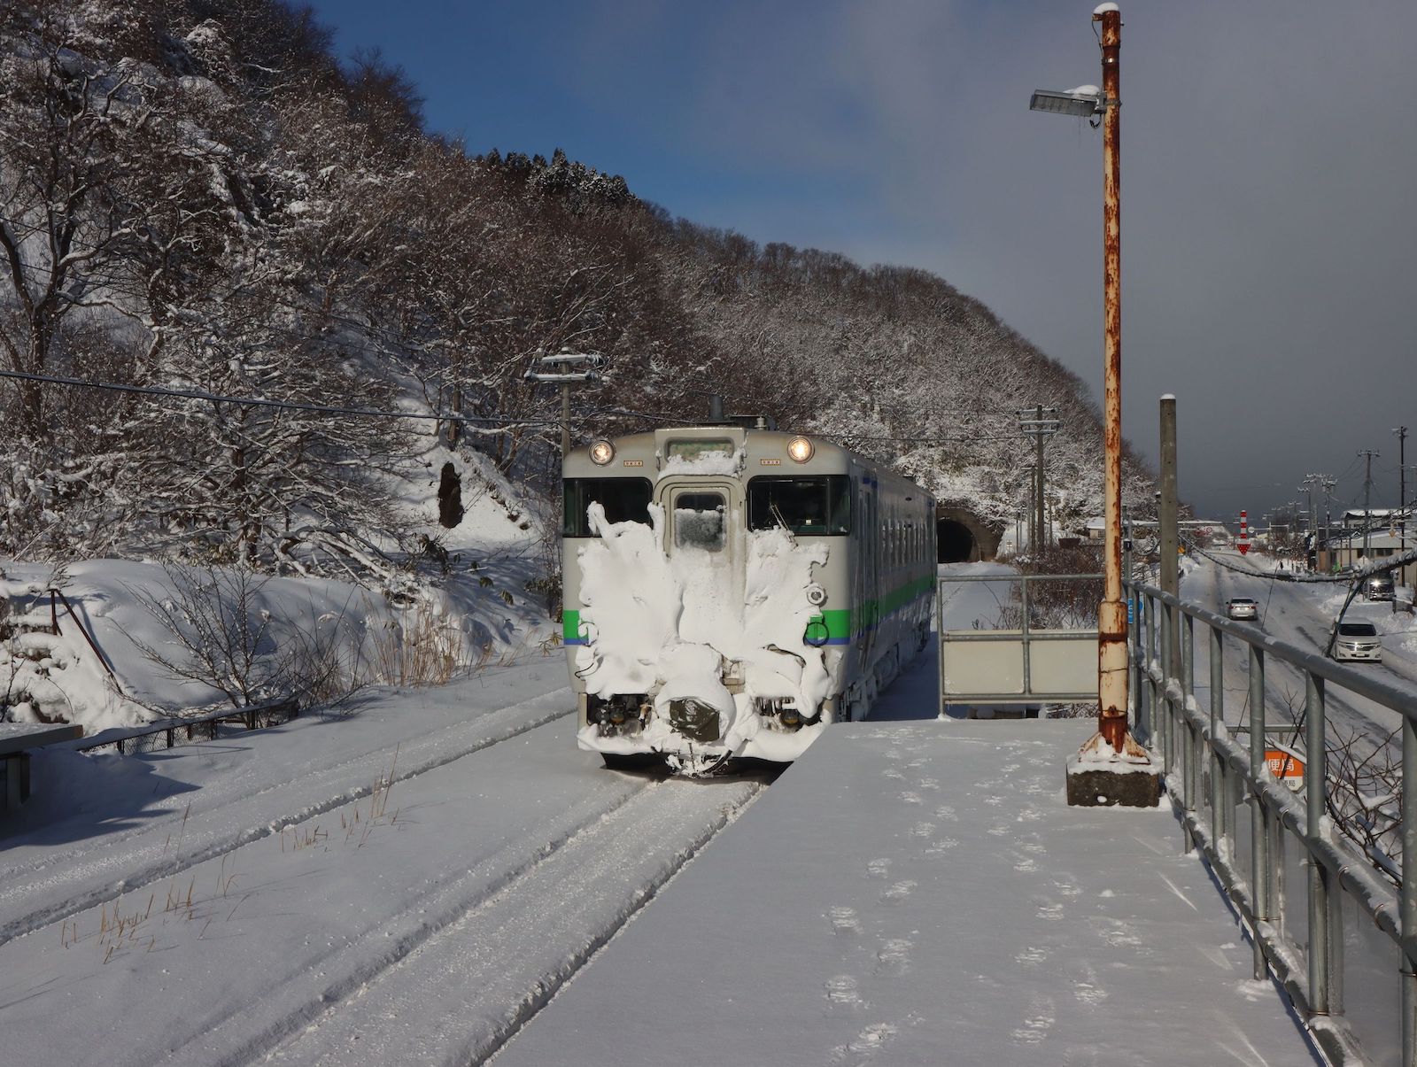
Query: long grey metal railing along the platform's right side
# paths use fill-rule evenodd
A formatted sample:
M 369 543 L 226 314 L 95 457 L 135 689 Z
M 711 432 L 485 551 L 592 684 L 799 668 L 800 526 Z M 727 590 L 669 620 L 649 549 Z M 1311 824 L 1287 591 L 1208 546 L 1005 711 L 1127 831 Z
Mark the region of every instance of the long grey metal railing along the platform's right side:
M 1275 640 L 1258 626 L 1185 604 L 1155 587 L 1134 581 L 1125 585 L 1139 606 L 1129 640 L 1138 733 L 1161 755 L 1187 850 L 1199 847 L 1204 854 L 1251 937 L 1254 976 L 1274 973 L 1329 1058 L 1369 1063 L 1343 1003 L 1342 901 L 1348 897 L 1399 951 L 1401 964 L 1391 978 L 1400 986 L 1401 1063 L 1417 1067 L 1417 785 L 1408 786 L 1407 777 L 1408 769 L 1417 774 L 1417 696 L 1363 670 Z M 1197 623 L 1209 648 L 1210 694 L 1204 711 L 1195 697 Z M 1244 645 L 1248 653 L 1248 745 L 1238 744 L 1224 723 L 1227 642 Z M 1265 735 L 1271 728 L 1265 670 L 1275 662 L 1304 679 L 1308 765 L 1302 795 L 1277 782 L 1265 761 Z M 1326 816 L 1329 686 L 1401 716 L 1399 891 L 1335 832 Z M 1246 809 L 1250 828 L 1247 840 L 1241 840 L 1237 813 Z M 1299 894 L 1302 914 L 1285 886 L 1289 842 L 1298 842 L 1308 869 Z M 1238 845 L 1248 846 L 1248 870 L 1237 854 Z M 1414 862 L 1408 863 L 1408 857 Z M 1294 937 L 1301 920 L 1302 942 Z

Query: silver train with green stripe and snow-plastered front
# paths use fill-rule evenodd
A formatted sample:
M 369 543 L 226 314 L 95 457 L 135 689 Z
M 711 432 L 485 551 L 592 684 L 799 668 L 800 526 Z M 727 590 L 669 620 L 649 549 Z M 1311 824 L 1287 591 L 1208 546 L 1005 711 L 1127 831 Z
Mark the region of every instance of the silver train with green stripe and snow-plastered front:
M 578 740 L 611 765 L 795 760 L 924 645 L 934 502 L 822 438 L 700 425 L 564 468 Z

